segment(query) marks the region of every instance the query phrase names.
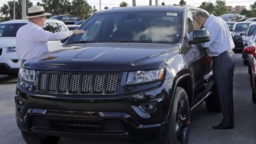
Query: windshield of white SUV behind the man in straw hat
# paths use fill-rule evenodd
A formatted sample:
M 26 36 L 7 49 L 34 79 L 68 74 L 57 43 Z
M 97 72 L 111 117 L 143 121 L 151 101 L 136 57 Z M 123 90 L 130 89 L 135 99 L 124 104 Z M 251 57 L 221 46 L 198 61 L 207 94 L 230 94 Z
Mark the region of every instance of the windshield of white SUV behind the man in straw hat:
M 0 37 L 16 37 L 18 29 L 27 23 L 0 24 Z

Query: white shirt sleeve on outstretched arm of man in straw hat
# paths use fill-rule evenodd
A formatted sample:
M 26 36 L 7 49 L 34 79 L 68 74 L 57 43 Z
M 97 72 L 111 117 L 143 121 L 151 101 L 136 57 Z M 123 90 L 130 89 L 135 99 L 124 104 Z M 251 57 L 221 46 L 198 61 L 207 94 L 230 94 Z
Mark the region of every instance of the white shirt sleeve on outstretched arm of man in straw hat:
M 62 31 L 58 33 L 52 33 L 50 31 L 43 30 L 42 28 L 38 28 L 34 31 L 34 37 L 36 41 L 46 42 L 46 41 L 54 41 L 54 40 L 62 40 L 66 39 L 69 36 L 72 36 L 72 31 Z

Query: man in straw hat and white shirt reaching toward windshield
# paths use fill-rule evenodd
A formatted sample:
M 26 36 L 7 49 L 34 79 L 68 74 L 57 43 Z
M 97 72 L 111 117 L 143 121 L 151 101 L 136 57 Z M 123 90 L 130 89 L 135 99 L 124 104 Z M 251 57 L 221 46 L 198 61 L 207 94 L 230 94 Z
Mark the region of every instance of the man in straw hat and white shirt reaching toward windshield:
M 41 27 L 44 26 L 47 15 L 51 14 L 45 12 L 41 6 L 36 5 L 28 8 L 28 16 L 23 18 L 28 19 L 28 23 L 21 27 L 16 34 L 16 50 L 21 62 L 49 52 L 47 41 L 62 40 L 72 36 L 72 34 L 85 33 L 84 30 L 59 33 L 45 31 Z

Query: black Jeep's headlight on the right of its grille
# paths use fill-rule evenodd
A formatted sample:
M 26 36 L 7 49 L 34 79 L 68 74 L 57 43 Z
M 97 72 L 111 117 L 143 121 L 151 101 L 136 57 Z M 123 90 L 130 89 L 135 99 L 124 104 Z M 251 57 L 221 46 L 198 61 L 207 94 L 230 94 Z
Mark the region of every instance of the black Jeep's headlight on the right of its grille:
M 129 72 L 126 84 L 140 84 L 161 80 L 164 76 L 164 68 L 151 71 Z

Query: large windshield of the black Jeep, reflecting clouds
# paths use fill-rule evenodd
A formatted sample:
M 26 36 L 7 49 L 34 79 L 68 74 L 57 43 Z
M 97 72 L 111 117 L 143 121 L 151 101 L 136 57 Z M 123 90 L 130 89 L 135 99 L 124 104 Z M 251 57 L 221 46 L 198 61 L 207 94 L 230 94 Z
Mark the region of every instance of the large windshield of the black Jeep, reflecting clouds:
M 68 43 L 178 43 L 181 16 L 177 12 L 121 12 L 96 14 Z

